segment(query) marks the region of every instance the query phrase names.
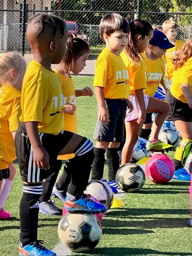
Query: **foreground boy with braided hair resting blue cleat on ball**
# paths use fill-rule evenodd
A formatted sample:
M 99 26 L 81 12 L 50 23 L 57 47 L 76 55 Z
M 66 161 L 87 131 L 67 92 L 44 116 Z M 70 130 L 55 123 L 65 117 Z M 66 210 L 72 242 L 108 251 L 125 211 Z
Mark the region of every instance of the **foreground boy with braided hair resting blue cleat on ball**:
M 92 142 L 64 131 L 64 96 L 51 64 L 59 64 L 66 54 L 68 32 L 65 22 L 53 15 L 39 14 L 29 22 L 26 36 L 33 51 L 21 94 L 22 114 L 15 136 L 16 154 L 23 181 L 20 201 L 20 256 L 56 256 L 38 240 L 39 198 L 42 181 L 51 175 L 58 155 L 74 153 L 68 165 L 71 182 L 65 202 L 70 212 L 103 212 L 84 194 L 94 158 Z M 86 150 L 85 150 L 86 149 Z M 80 166 L 83 168 L 80 170 Z

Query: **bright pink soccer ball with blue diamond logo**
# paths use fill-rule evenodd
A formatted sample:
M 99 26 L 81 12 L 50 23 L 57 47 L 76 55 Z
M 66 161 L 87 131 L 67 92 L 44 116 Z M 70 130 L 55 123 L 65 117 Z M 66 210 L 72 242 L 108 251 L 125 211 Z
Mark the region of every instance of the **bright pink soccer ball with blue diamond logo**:
M 173 178 L 174 171 L 174 162 L 164 154 L 151 156 L 145 166 L 147 178 L 156 184 L 169 182 Z

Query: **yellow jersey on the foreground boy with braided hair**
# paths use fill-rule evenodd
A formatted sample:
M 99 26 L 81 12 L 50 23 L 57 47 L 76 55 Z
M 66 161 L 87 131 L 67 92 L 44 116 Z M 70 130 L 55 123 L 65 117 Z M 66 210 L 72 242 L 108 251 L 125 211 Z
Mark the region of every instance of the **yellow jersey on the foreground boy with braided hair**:
M 22 87 L 22 122 L 38 122 L 39 132 L 58 134 L 64 129 L 64 98 L 55 72 L 32 60 Z

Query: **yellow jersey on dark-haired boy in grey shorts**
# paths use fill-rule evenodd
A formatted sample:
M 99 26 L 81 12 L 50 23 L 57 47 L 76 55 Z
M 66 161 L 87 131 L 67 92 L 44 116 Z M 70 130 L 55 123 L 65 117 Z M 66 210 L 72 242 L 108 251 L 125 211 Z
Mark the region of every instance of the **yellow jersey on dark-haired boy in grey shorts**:
M 96 61 L 94 86 L 104 88 L 106 99 L 128 99 L 130 86 L 128 72 L 121 56 L 104 49 Z

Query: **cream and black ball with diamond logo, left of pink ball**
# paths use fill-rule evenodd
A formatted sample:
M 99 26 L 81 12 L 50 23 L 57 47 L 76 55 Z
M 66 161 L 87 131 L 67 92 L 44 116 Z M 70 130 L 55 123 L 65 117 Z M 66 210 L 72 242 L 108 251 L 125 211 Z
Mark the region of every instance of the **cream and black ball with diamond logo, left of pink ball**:
M 144 170 L 134 163 L 124 164 L 116 173 L 116 182 L 125 192 L 137 192 L 145 184 Z

